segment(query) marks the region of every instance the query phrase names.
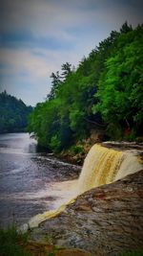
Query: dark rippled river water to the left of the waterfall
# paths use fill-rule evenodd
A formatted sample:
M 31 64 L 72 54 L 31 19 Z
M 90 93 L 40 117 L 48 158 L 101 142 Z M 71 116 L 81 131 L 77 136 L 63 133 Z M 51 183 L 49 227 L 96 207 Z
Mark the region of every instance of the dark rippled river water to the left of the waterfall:
M 20 225 L 53 209 L 62 197 L 66 184 L 62 181 L 72 180 L 79 172 L 80 168 L 51 154 L 37 153 L 36 141 L 28 133 L 1 134 L 0 225 L 13 220 Z

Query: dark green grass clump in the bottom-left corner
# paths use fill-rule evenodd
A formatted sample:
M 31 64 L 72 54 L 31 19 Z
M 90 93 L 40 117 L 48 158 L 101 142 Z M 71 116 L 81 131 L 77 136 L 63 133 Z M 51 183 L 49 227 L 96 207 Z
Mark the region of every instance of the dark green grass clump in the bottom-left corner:
M 0 229 L 0 254 L 2 256 L 30 256 L 20 243 L 27 242 L 27 235 L 18 234 L 15 225 Z

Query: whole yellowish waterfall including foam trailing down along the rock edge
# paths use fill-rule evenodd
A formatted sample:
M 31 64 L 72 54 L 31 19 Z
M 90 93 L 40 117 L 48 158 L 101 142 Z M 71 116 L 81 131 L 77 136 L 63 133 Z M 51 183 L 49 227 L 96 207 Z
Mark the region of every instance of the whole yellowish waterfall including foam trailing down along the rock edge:
M 73 199 L 69 199 L 69 202 L 58 209 L 34 216 L 28 224 L 23 225 L 22 230 L 26 230 L 29 226 L 37 226 L 41 221 L 57 216 L 82 193 L 141 170 L 143 163 L 138 154 L 136 150 L 121 151 L 95 144 L 85 159 L 78 181 L 72 183 Z

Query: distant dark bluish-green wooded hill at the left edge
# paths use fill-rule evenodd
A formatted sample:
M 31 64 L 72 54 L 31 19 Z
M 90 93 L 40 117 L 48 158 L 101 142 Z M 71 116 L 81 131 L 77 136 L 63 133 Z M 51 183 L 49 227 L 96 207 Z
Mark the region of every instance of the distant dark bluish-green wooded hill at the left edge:
M 24 131 L 31 111 L 31 106 L 25 105 L 6 91 L 0 93 L 0 133 Z

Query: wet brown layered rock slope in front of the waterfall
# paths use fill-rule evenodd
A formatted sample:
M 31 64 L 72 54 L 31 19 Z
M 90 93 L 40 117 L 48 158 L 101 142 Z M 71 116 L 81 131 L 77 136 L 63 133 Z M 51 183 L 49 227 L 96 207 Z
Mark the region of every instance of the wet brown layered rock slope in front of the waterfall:
M 143 247 L 143 171 L 79 196 L 57 217 L 42 222 L 31 239 L 78 247 L 92 255 L 117 255 Z

